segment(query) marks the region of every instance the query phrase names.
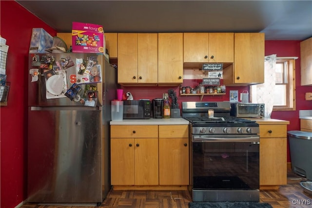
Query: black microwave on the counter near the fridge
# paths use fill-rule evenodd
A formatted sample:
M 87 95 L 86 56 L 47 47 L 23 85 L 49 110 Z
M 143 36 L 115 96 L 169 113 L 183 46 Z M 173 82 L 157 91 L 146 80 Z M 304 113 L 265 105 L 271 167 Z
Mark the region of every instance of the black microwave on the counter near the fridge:
M 150 119 L 150 100 L 126 100 L 123 102 L 123 119 Z

